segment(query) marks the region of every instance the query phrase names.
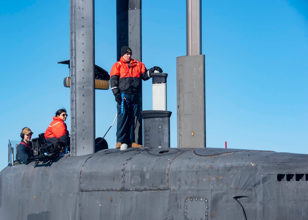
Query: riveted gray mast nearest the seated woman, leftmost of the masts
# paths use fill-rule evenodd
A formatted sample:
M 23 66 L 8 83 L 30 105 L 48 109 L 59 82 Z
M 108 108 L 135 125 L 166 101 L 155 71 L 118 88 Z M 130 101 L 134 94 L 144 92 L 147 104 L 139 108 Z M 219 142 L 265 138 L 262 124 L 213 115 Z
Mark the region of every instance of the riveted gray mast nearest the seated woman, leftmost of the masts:
M 94 0 L 70 0 L 71 155 L 94 153 Z

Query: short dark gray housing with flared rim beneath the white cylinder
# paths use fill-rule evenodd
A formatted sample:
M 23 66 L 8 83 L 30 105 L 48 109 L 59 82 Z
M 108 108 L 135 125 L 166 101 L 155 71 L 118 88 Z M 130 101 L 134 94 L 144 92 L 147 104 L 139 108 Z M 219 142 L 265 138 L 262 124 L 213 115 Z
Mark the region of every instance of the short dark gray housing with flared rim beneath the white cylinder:
M 142 111 L 144 147 L 170 147 L 170 116 L 169 111 Z

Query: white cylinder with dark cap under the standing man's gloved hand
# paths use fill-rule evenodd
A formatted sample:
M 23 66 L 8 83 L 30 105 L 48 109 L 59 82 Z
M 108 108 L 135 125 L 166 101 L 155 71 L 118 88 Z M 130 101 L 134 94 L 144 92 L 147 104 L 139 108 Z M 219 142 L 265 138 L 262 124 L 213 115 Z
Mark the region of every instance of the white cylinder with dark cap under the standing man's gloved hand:
M 152 73 L 153 110 L 167 111 L 167 73 Z

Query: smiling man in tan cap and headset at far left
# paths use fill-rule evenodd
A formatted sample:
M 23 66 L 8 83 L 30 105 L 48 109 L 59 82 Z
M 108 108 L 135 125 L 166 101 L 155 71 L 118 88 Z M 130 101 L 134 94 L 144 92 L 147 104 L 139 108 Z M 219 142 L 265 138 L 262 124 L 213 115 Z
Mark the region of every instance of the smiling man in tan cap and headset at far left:
M 34 157 L 32 152 L 32 137 L 33 132 L 30 130 L 30 128 L 22 128 L 20 137 L 22 138 L 20 144 L 17 147 L 17 154 L 22 163 L 28 164 L 30 163 L 29 157 Z

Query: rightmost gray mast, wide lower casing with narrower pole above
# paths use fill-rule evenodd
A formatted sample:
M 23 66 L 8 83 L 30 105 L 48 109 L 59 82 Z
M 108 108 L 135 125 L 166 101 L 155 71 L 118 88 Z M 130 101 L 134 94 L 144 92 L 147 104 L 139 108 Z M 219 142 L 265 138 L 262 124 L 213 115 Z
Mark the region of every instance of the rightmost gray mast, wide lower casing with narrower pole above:
M 176 58 L 178 148 L 206 147 L 201 0 L 186 1 L 187 56 Z

